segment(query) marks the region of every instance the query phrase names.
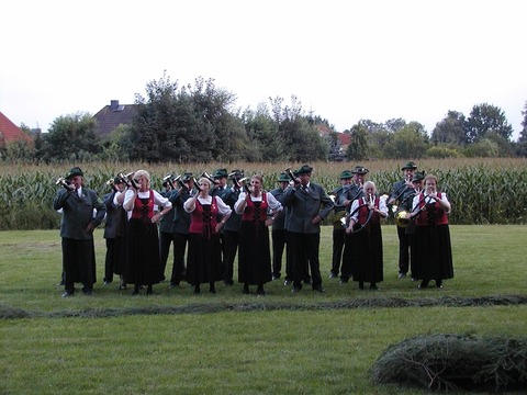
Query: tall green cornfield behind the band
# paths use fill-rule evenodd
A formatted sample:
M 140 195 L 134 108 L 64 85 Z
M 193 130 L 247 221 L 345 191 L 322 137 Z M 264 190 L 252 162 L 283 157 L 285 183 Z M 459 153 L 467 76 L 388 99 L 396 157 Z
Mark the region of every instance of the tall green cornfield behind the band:
M 404 161 L 365 161 L 380 193 L 388 193 L 401 179 Z M 87 188 L 101 196 L 110 192 L 106 181 L 117 172 L 137 169 L 150 172 L 152 187 L 161 188 L 167 173 L 186 171 L 195 177 L 203 171 L 212 173 L 217 168 L 228 171 L 240 169 L 246 176 L 261 173 L 265 188 L 277 187 L 276 179 L 285 168 L 293 170 L 302 163 L 179 163 L 148 165 L 137 162 L 88 162 L 66 165 L 0 165 L 0 230 L 58 228 L 60 217 L 52 207 L 59 177 L 72 166 L 85 171 Z M 330 192 L 338 185 L 338 176 L 356 163 L 315 162 L 312 179 Z M 526 159 L 442 159 L 423 160 L 418 170 L 436 174 L 439 189 L 446 192 L 452 204 L 451 224 L 526 224 L 527 223 L 527 160 Z

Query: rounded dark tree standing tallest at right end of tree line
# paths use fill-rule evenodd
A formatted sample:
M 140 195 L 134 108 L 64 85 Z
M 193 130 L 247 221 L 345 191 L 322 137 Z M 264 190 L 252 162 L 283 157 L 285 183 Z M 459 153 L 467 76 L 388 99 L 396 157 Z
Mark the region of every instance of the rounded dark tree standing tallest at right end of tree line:
M 467 119 L 467 142 L 469 144 L 478 143 L 489 132 L 511 142 L 513 127 L 507 123 L 507 119 L 500 108 L 486 103 L 474 105 Z

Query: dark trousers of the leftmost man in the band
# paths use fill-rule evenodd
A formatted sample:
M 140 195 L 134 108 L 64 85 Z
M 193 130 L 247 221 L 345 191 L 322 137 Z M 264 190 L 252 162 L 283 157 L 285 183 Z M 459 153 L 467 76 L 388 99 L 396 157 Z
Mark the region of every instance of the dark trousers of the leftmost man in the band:
M 94 279 L 93 240 L 76 240 L 63 237 L 63 270 L 65 290 L 75 292 L 75 283 L 81 282 L 83 291 L 93 289 Z

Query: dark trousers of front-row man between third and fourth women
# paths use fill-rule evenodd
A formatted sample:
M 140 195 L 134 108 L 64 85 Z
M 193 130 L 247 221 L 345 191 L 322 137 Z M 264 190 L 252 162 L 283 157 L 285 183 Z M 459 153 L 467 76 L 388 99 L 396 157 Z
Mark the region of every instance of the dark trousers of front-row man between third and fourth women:
M 288 232 L 288 242 L 292 249 L 294 287 L 299 290 L 302 287 L 302 280 L 309 276 L 309 270 L 311 271 L 312 286 L 322 285 L 321 262 L 318 260 L 321 234 Z

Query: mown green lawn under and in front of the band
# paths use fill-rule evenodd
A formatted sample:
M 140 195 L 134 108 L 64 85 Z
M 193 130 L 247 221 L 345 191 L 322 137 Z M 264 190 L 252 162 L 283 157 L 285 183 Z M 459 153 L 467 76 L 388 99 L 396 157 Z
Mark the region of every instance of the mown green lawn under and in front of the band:
M 57 230 L 0 233 L 2 394 L 415 394 L 374 385 L 369 369 L 390 346 L 426 334 L 526 335 L 527 226 L 451 226 L 455 278 L 417 290 L 396 278 L 396 233 L 383 227 L 380 292 L 327 279 L 326 292 L 192 294 L 189 285 L 131 296 L 102 284 L 96 233 L 93 297 L 60 298 Z M 170 260 L 170 258 L 169 258 Z M 18 316 L 19 318 L 13 318 Z

